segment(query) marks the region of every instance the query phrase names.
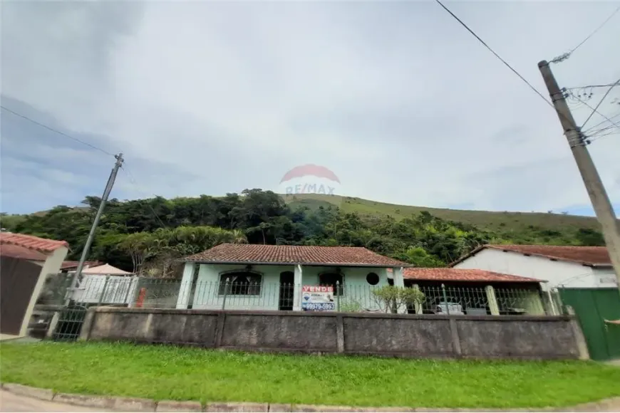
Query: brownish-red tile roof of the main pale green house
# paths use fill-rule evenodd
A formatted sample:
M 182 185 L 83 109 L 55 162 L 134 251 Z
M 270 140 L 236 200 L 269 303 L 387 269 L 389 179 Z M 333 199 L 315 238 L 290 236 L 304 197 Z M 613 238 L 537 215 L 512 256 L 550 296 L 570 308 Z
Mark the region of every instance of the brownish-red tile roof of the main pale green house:
M 408 266 L 407 263 L 352 246 L 221 244 L 185 258 L 205 263 L 291 263 L 331 266 Z

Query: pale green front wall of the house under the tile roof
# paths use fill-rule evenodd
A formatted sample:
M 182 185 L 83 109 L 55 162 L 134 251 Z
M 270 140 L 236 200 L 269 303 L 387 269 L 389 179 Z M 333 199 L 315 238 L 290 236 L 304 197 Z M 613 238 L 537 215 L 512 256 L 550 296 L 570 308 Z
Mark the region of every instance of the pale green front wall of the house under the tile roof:
M 217 310 L 224 305 L 224 296 L 219 295 L 220 274 L 227 271 L 243 271 L 244 265 L 234 264 L 200 264 L 198 276 L 194 286 L 192 308 L 202 308 Z M 373 288 L 380 288 L 388 285 L 388 271 L 386 268 L 373 267 L 340 267 L 343 274 L 343 295 L 339 297 L 342 305 L 345 303 L 358 303 L 367 310 L 378 310 L 378 305 L 374 302 L 371 291 Z M 182 280 L 180 301 L 177 308 L 187 308 L 185 304 L 189 293 L 190 280 L 192 279 L 194 266 L 187 263 Z M 237 310 L 278 310 L 280 295 L 280 273 L 284 271 L 295 271 L 293 265 L 252 266 L 252 271 L 262 275 L 262 285 L 260 294 L 257 296 L 234 296 L 227 295 L 225 308 Z M 334 271 L 330 266 L 301 266 L 301 285 L 319 285 L 319 274 Z M 371 286 L 366 282 L 368 273 L 376 273 L 379 276 L 379 283 Z M 295 286 L 295 295 L 300 295 L 299 287 Z

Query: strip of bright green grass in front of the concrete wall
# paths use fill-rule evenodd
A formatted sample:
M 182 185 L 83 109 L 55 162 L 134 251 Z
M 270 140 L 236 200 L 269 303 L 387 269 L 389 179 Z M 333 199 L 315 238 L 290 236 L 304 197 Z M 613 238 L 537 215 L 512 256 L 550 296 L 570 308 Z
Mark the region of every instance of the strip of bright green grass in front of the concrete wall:
M 3 382 L 201 402 L 403 407 L 566 406 L 620 396 L 594 362 L 264 355 L 109 343 L 0 345 Z

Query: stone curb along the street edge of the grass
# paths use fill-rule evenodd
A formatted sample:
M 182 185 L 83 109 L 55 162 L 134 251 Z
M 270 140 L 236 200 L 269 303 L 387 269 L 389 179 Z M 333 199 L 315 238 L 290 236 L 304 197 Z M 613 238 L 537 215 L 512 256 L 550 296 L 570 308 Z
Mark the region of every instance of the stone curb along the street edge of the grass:
M 277 404 L 277 403 L 228 403 L 177 402 L 174 400 L 138 399 L 135 397 L 106 397 L 88 394 L 55 393 L 51 389 L 40 389 L 2 383 L 2 390 L 33 399 L 73 404 L 83 407 L 118 410 L 120 412 L 619 412 L 620 397 L 599 402 L 577 404 L 572 407 L 533 407 L 532 409 L 427 409 L 425 407 L 351 407 L 323 406 L 319 404 Z

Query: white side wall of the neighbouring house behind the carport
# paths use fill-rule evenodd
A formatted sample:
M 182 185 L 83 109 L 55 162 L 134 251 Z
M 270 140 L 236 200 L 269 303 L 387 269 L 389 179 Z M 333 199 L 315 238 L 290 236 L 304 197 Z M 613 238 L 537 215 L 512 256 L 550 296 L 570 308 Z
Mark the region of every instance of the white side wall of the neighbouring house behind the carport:
M 475 256 L 470 256 L 456 264 L 454 268 L 473 268 L 513 276 L 538 278 L 549 281 L 542 283 L 544 291 L 549 288 L 564 286 L 566 288 L 599 288 L 597 277 L 591 267 L 567 261 L 552 261 L 539 256 L 525 256 L 512 251 L 482 249 Z

